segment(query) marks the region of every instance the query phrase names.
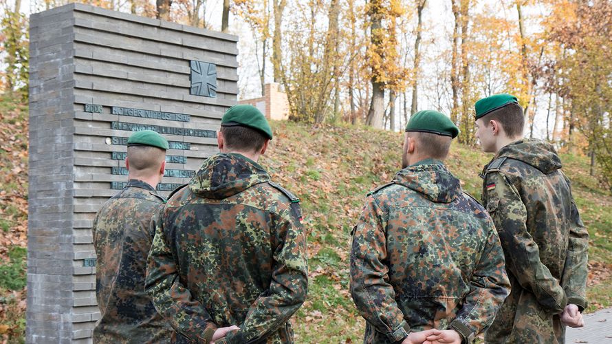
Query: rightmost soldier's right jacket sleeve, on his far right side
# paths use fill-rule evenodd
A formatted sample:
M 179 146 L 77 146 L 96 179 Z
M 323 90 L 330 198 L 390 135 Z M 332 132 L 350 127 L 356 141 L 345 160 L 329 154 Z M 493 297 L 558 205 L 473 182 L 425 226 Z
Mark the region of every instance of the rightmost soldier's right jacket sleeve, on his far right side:
M 565 178 L 568 186 L 569 180 Z M 580 312 L 587 308 L 587 260 L 589 248 L 589 232 L 582 224 L 576 202 L 571 200 L 569 219 L 569 242 L 565 268 L 561 276 L 561 286 L 567 295 L 567 303 L 578 305 Z

